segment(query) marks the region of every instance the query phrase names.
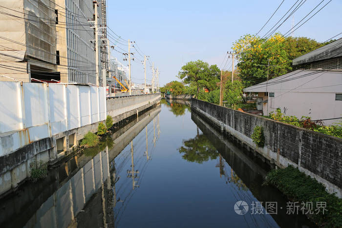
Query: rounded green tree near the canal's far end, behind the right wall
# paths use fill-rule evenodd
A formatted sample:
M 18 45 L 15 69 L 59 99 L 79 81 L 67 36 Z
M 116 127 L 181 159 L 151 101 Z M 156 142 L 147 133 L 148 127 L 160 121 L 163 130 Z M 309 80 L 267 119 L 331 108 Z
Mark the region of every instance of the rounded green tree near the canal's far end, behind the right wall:
M 204 87 L 209 90 L 217 88 L 216 83 L 220 80 L 220 70 L 216 65 L 209 66 L 208 62 L 197 60 L 196 62 L 188 62 L 182 66 L 178 77 L 190 87 L 195 87 L 196 98 L 200 88 Z

